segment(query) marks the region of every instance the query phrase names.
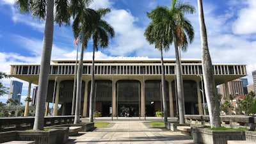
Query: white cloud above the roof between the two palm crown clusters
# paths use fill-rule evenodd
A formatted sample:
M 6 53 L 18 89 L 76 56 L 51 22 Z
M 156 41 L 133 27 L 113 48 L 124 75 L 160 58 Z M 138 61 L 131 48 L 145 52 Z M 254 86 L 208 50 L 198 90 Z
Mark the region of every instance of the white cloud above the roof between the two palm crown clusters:
M 147 45 L 143 36 L 144 29 L 134 24 L 138 19 L 126 10 L 112 10 L 106 18 L 115 29 L 113 45 L 107 51 L 114 56 L 127 56 L 136 49 Z

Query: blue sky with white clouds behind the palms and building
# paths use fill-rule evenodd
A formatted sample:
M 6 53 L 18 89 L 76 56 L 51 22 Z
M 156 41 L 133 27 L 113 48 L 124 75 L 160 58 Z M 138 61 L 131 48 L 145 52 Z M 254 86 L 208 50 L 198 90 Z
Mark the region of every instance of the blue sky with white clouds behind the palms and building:
M 188 1 L 188 0 L 187 0 Z M 10 64 L 40 63 L 44 22 L 38 22 L 29 14 L 21 14 L 14 6 L 15 0 L 0 1 L 0 71 L 9 74 Z M 167 0 L 95 0 L 90 7 L 111 8 L 105 19 L 115 29 L 116 36 L 108 49 L 96 52 L 95 58 L 113 56 L 145 56 L 159 58 L 154 45 L 149 45 L 143 33 L 150 20 L 146 13 L 156 6 L 170 6 Z M 197 1 L 190 0 L 197 11 Z M 239 63 L 247 65 L 249 84 L 253 83 L 252 70 L 256 70 L 256 1 L 255 0 L 204 0 L 205 23 L 212 63 Z M 187 15 L 195 29 L 195 40 L 182 58 L 200 58 L 201 44 L 198 13 Z M 76 58 L 74 36 L 68 26 L 54 27 L 52 60 Z M 92 58 L 92 48 L 84 51 L 84 58 Z M 164 58 L 175 58 L 173 47 Z M 13 80 L 18 80 L 12 78 Z M 11 79 L 1 82 L 9 86 Z M 23 82 L 22 99 L 28 92 Z M 6 102 L 7 96 L 0 97 Z M 24 100 L 21 100 L 24 102 Z

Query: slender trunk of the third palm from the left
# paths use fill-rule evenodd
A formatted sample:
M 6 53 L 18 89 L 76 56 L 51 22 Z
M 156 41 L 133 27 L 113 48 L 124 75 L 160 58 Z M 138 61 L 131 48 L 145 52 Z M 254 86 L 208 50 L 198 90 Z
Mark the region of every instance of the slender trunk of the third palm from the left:
M 93 47 L 92 55 L 92 83 L 91 83 L 91 92 L 90 92 L 90 108 L 89 108 L 89 122 L 93 122 L 93 112 L 94 112 L 94 99 L 95 99 L 95 81 L 94 81 L 94 56 L 95 56 L 95 47 Z

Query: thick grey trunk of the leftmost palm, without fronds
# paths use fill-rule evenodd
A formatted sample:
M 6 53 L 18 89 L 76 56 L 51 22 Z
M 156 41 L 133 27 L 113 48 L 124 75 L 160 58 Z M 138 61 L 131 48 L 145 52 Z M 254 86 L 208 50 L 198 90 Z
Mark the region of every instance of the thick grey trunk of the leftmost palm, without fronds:
M 36 114 L 33 129 L 44 130 L 44 109 L 49 81 L 51 63 L 52 39 L 54 29 L 54 1 L 47 0 L 47 16 L 45 20 L 44 41 L 38 82 L 38 97 L 36 100 Z

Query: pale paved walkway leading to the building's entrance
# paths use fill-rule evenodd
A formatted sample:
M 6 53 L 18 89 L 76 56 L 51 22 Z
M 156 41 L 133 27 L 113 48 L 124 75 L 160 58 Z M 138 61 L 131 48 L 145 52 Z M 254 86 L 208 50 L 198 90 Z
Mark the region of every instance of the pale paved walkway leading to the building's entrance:
M 79 132 L 70 136 L 68 144 L 82 143 L 170 143 L 192 144 L 190 136 L 164 128 L 152 127 L 150 121 L 162 118 L 95 118 L 95 122 L 109 122 L 107 127 L 97 127 L 92 132 Z M 87 122 L 88 120 L 82 119 Z

